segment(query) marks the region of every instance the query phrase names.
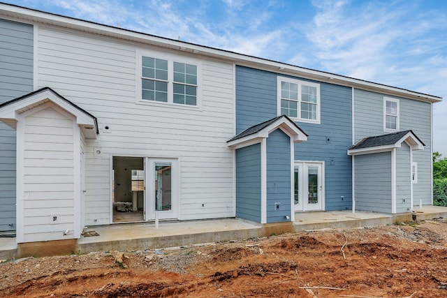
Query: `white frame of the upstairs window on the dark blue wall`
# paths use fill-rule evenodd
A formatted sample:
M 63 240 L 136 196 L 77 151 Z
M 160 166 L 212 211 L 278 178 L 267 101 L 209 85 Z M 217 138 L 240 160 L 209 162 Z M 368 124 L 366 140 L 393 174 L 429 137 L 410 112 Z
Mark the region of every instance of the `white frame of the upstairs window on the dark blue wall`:
M 298 100 L 297 100 L 297 117 L 289 117 L 293 121 L 298 122 L 307 122 L 307 123 L 313 123 L 313 124 L 321 124 L 320 119 L 320 110 L 321 110 L 321 104 L 320 104 L 320 84 L 316 84 L 314 82 L 307 82 L 302 80 L 296 80 L 291 77 L 281 77 L 278 76 L 277 78 L 277 114 L 278 116 L 281 115 L 281 82 L 289 82 L 293 84 L 298 84 Z M 301 118 L 301 90 L 302 85 L 309 86 L 309 87 L 315 87 L 316 88 L 316 119 L 305 119 Z

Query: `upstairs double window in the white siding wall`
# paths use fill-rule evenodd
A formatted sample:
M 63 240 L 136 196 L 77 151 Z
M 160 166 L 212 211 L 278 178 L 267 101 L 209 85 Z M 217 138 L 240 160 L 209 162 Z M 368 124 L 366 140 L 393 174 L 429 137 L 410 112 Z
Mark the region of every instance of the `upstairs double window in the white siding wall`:
M 141 70 L 139 102 L 198 106 L 198 64 L 176 57 L 161 59 L 149 54 L 137 57 L 141 59 L 138 61 Z

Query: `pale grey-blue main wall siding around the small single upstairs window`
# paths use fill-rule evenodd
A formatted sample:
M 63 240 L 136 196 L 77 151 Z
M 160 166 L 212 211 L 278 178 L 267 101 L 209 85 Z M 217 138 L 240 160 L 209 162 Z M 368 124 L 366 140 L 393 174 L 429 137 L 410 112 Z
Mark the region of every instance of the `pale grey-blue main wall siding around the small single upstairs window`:
M 397 99 L 400 131 L 411 129 L 425 144 L 423 150 L 413 151 L 413 161 L 418 163 L 418 183 L 413 184 L 414 204 L 419 204 L 419 200 L 423 204 L 432 204 L 432 104 Z M 387 133 L 383 131 L 383 94 L 355 89 L 354 100 L 354 140 L 358 142 L 363 137 Z

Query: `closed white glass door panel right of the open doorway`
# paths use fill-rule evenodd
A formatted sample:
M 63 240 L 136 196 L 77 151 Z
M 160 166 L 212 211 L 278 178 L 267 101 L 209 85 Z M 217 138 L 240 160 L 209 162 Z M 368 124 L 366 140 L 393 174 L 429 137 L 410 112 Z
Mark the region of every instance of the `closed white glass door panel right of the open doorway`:
M 178 161 L 145 159 L 145 220 L 178 218 Z

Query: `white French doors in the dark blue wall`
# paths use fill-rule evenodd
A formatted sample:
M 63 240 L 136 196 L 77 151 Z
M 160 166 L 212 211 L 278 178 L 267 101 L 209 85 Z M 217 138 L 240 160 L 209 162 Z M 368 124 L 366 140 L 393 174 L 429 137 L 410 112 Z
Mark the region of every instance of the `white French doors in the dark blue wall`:
M 295 211 L 323 210 L 324 163 L 295 161 L 293 174 Z

